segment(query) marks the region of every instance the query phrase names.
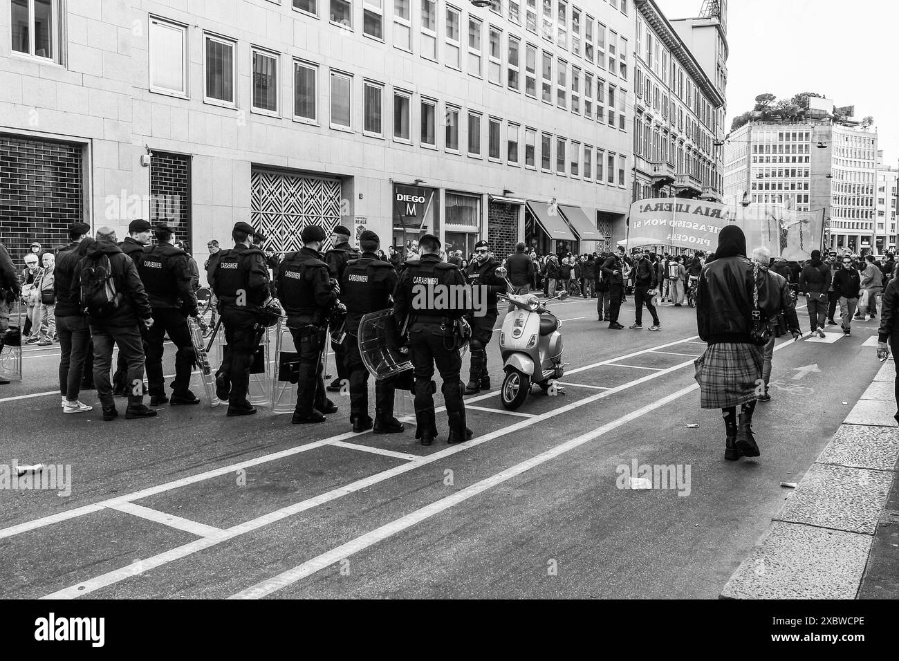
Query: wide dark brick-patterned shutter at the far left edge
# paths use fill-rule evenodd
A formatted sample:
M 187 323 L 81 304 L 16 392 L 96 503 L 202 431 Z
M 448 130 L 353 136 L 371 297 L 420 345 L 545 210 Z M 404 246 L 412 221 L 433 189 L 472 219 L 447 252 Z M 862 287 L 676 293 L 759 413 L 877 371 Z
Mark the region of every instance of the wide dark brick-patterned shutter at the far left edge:
M 84 218 L 82 147 L 0 135 L 0 241 L 17 269 L 31 242 L 67 244 Z

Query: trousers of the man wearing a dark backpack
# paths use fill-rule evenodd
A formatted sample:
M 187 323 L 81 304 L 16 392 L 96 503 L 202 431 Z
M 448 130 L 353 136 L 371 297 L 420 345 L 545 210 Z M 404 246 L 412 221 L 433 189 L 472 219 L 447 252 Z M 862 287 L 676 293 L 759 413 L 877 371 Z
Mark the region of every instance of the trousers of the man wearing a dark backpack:
M 139 322 L 138 322 L 139 323 Z M 119 353 L 125 356 L 128 365 L 128 406 L 139 406 L 144 402 L 144 343 L 138 326 L 96 326 L 91 325 L 93 335 L 93 384 L 97 387 L 97 397 L 103 408 L 113 408 L 110 368 L 112 366 L 112 346 L 119 345 Z M 135 393 L 140 393 L 136 395 Z

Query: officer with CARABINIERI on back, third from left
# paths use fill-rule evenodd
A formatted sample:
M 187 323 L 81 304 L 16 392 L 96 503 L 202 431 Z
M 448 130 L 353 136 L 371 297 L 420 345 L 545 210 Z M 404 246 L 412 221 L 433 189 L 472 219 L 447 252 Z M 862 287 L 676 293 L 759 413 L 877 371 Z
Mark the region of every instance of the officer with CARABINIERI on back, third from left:
M 284 256 L 275 278 L 280 303 L 287 311 L 290 335 L 299 353 L 293 424 L 322 423 L 325 414 L 337 411 L 337 406 L 325 397 L 322 376 L 327 321 L 340 293 L 318 252 L 326 236 L 325 230 L 316 225 L 304 228 L 300 234 L 303 247 Z

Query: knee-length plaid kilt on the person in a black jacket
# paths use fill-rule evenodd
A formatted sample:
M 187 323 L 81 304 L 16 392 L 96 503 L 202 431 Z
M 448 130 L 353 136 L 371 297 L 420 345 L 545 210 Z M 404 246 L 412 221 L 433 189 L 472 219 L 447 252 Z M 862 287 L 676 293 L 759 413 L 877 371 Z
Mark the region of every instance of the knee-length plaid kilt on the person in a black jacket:
M 696 359 L 699 405 L 729 408 L 751 402 L 758 396 L 765 347 L 755 344 L 709 344 Z

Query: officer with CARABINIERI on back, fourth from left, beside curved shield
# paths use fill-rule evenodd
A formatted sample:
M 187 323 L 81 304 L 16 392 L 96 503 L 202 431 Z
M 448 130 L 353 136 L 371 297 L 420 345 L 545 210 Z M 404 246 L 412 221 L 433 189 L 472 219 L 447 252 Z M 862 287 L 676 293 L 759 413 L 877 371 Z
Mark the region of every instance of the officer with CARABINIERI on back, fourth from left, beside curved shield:
M 346 370 L 350 377 L 350 422 L 353 432 L 371 429 L 369 371 L 359 353 L 359 322 L 363 315 L 390 307 L 396 288 L 396 271 L 378 258 L 378 235 L 362 232 L 362 256 L 346 264 L 341 297 L 346 305 Z M 393 415 L 395 387 L 390 379 L 375 381 L 375 433 L 399 433 L 403 424 Z

